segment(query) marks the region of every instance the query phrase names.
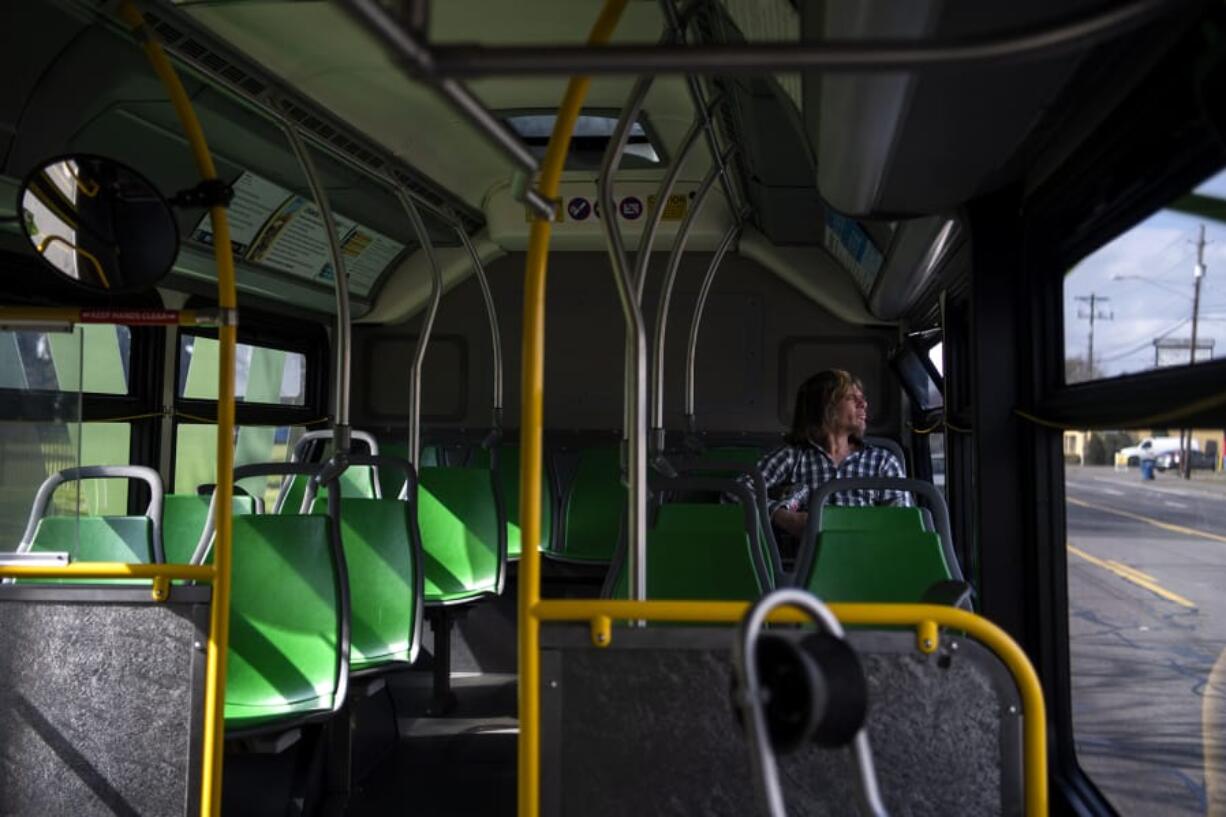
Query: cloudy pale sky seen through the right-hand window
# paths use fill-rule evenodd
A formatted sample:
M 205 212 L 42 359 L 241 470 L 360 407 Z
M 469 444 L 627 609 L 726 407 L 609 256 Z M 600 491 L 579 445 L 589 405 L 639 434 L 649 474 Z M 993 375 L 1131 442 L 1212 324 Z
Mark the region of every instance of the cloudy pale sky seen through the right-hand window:
M 1195 188 L 1226 199 L 1226 171 Z M 1095 294 L 1094 359 L 1107 375 L 1154 368 L 1154 339 L 1189 341 L 1197 236 L 1205 226 L 1205 276 L 1200 285 L 1198 346 L 1214 341 L 1213 357 L 1226 357 L 1226 223 L 1159 211 L 1083 259 L 1064 278 L 1064 357 L 1085 359 L 1089 304 Z M 1103 319 L 1106 313 L 1110 318 Z M 1208 357 L 1201 351 L 1198 359 Z

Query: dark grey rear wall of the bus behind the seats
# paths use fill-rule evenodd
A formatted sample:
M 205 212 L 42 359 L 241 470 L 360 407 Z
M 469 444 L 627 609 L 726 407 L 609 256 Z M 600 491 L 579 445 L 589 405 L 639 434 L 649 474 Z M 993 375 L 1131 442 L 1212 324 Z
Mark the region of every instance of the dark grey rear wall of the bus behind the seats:
M 669 309 L 664 358 L 664 424 L 684 424 L 684 364 L 694 302 L 711 255 L 693 253 L 679 266 Z M 489 265 L 504 359 L 505 416 L 519 426 L 520 332 L 524 261 L 511 253 Z M 666 253 L 652 255 L 644 293 L 649 339 L 653 332 Z M 546 323 L 546 426 L 550 429 L 614 431 L 622 427 L 624 321 L 608 258 L 603 253 L 555 253 L 550 259 Z M 402 325 L 358 326 L 353 417 L 357 427 L 402 427 L 391 405 L 407 416 L 416 315 Z M 467 405 L 462 418 L 432 421 L 433 428 L 488 427 L 493 363 L 488 319 L 476 278 L 449 291 L 434 324 L 435 336 L 462 336 L 468 348 Z M 791 421 L 796 386 L 819 368 L 848 368 L 866 383 L 869 432 L 897 435 L 901 406 L 886 374 L 895 330 L 845 323 L 748 259 L 728 255 L 715 280 L 699 334 L 695 402 L 700 431 L 777 433 Z M 400 339 L 403 346 L 380 346 Z M 371 353 L 371 348 L 396 353 Z M 812 370 L 810 370 L 812 369 Z M 444 347 L 428 350 L 423 405 L 432 391 L 455 394 L 456 361 Z M 391 401 L 390 395 L 403 395 Z

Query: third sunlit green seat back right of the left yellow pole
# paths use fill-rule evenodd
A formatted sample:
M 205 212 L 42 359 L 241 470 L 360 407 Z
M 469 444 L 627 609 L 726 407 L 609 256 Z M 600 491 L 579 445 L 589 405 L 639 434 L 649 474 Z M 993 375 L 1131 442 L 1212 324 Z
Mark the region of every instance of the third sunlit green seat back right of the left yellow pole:
M 489 470 L 430 466 L 418 481 L 427 604 L 498 593 L 503 566 Z

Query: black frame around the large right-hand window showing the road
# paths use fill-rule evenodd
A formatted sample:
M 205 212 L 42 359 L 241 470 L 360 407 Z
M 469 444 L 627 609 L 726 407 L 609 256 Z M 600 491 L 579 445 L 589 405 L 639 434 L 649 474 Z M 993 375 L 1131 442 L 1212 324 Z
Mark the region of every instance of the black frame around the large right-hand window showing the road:
M 1204 405 L 1221 394 L 1226 361 L 1076 384 L 1064 382 L 1067 274 L 1081 259 L 1226 166 L 1226 152 L 1200 112 L 1179 108 L 1186 101 L 1168 93 L 1167 104 L 1154 103 L 1167 91 L 1163 82 L 1172 79 L 1190 82 L 1188 74 L 1181 71 L 1183 66 L 1167 67 L 1166 72 L 1152 74 L 1148 83 L 1108 115 L 1096 139 L 1070 155 L 1063 167 L 1075 169 L 1058 180 L 1060 186 L 1053 183 L 1025 199 L 1020 224 L 1024 260 L 1016 286 L 1022 297 L 1014 310 L 1029 324 L 1030 339 L 1019 341 L 1018 352 L 1024 358 L 1019 370 L 1029 379 L 1019 385 L 1025 386 L 1022 394 L 1030 391 L 1032 402 L 1019 407 L 1057 427 L 1029 422 L 1022 426 L 1022 437 L 1032 439 L 1034 445 L 1019 458 L 1018 467 L 1025 470 L 1035 486 L 1034 507 L 1024 532 L 1035 551 L 1035 580 L 1026 593 L 1037 594 L 1037 599 L 1029 606 L 1020 605 L 1020 626 L 1048 699 L 1054 737 L 1049 745 L 1053 805 L 1063 804 L 1076 813 L 1116 813 L 1116 810 L 1081 768 L 1074 740 L 1059 427 L 1125 428 L 1160 413 L 1170 415 L 1163 424 L 1171 427 L 1226 426 L 1226 405 Z M 1189 96 L 1194 102 L 1195 94 Z M 1134 114 L 1140 107 L 1149 110 L 1149 130 L 1135 126 Z M 1171 395 L 1176 394 L 1182 412 L 1172 405 Z M 994 559 L 986 553 L 984 563 Z

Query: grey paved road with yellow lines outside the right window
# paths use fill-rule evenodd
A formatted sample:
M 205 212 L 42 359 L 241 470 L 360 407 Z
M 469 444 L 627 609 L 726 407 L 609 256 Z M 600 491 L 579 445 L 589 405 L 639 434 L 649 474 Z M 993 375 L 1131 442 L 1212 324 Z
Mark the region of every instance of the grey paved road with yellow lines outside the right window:
M 1226 481 L 1070 466 L 1067 496 L 1083 767 L 1122 815 L 1226 813 Z

